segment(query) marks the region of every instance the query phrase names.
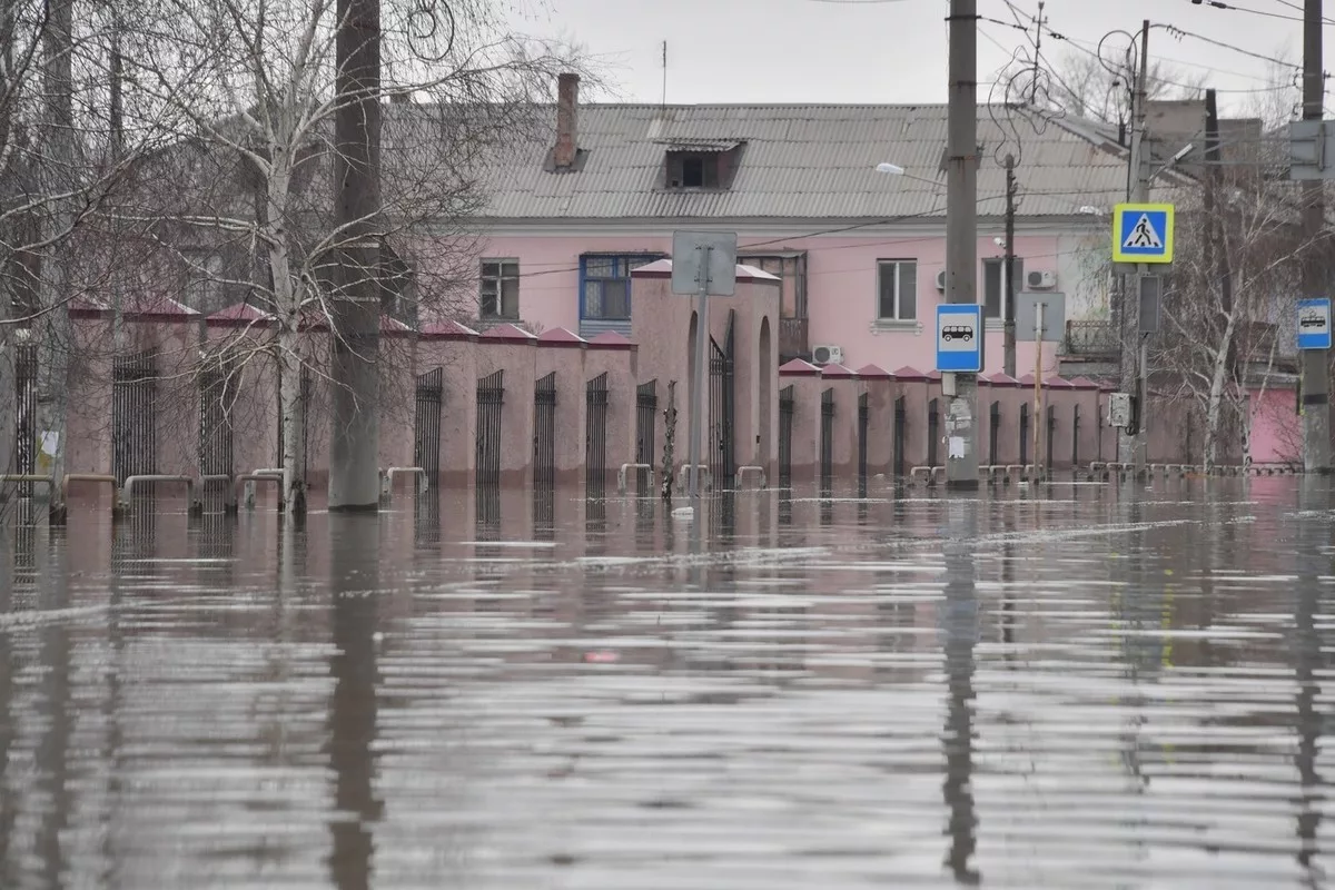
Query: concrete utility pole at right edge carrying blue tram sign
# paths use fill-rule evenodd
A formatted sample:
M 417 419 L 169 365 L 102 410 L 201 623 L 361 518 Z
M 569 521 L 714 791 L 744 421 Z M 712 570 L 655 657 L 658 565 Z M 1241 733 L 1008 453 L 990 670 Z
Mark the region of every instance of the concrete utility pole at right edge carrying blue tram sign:
M 1322 67 L 1322 0 L 1307 0 L 1303 5 L 1303 120 L 1320 120 L 1324 105 L 1326 77 Z M 1322 251 L 1315 242 L 1322 238 L 1326 219 L 1324 183 L 1303 183 L 1303 235 L 1308 243 L 1310 259 L 1303 263 L 1303 296 L 1328 296 L 1322 276 Z M 1326 350 L 1303 350 L 1303 470 L 1330 472 L 1331 467 L 1331 406 L 1330 372 Z

